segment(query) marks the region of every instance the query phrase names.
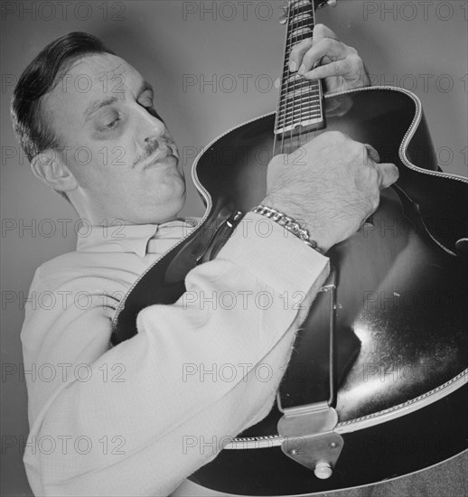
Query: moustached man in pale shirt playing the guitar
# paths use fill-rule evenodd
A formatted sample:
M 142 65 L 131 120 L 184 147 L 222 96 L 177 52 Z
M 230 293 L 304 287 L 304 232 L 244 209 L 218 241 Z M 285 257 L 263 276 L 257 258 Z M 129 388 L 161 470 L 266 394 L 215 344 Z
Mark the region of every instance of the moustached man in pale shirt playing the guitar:
M 323 65 L 313 69 L 316 63 Z M 325 78 L 329 90 L 368 84 L 357 52 L 321 25 L 295 47 L 290 69 Z M 92 82 L 86 92 L 76 84 L 83 75 Z M 305 145 L 295 153 L 304 152 L 302 161 L 275 157 L 262 203 L 304 220 L 318 250 L 249 212 L 217 258 L 189 273 L 186 288 L 267 295 L 268 305 L 253 298 L 247 309 L 202 306 L 183 295 L 138 314 L 136 337 L 111 349 L 110 320 L 122 295 L 192 229 L 177 218 L 185 183 L 154 91 L 96 38 L 70 33 L 24 70 L 12 115 L 33 173 L 65 195 L 84 224 L 77 251 L 34 277 L 31 292 L 55 305 L 28 308 L 23 325 L 25 368 L 61 373 L 28 382 L 24 463 L 33 492 L 167 495 L 222 448 L 184 450 L 184 436 L 228 441 L 267 415 L 295 331 L 328 274 L 323 254 L 360 228 L 398 170 L 340 133 Z M 105 161 L 103 151 L 116 147 L 125 153 Z M 257 234 L 260 221 L 271 236 Z M 285 292 L 305 295 L 301 309 L 285 306 Z M 261 363 L 273 371 L 267 382 L 255 375 Z M 183 378 L 187 364 L 234 364 L 239 374 L 229 382 Z

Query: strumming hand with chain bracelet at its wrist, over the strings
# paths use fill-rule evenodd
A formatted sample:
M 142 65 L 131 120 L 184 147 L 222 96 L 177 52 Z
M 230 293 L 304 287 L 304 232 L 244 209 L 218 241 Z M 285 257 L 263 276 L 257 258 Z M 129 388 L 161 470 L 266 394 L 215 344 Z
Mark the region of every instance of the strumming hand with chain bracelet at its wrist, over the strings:
M 262 202 L 302 221 L 326 252 L 349 238 L 379 205 L 379 190 L 398 179 L 394 164 L 378 164 L 370 145 L 338 131 L 319 135 L 293 154 L 276 155 Z

